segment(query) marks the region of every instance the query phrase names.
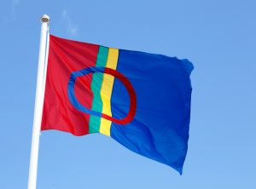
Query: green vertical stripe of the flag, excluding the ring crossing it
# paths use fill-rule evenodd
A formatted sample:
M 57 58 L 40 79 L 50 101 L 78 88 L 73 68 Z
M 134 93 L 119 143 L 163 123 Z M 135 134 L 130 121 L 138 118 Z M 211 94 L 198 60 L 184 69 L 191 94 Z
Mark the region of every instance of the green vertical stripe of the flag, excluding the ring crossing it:
M 96 66 L 105 67 L 108 60 L 108 48 L 99 47 Z M 102 89 L 103 73 L 96 72 L 92 76 L 92 82 L 90 88 L 93 92 L 93 100 L 91 109 L 96 112 L 102 112 L 102 98 L 101 98 L 101 89 Z M 89 133 L 98 133 L 101 126 L 101 117 L 90 116 L 89 121 Z

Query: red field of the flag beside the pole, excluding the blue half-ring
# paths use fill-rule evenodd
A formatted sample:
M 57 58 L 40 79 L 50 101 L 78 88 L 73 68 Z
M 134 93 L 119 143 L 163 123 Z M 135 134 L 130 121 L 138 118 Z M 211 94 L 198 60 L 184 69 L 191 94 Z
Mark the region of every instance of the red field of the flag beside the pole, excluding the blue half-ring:
M 65 40 L 50 35 L 48 70 L 44 94 L 41 130 L 57 129 L 73 135 L 86 135 L 89 118 L 76 110 L 68 100 L 67 84 L 72 72 L 96 66 L 99 46 Z M 79 77 L 75 95 L 83 106 L 91 108 L 93 94 L 90 89 L 92 74 Z

